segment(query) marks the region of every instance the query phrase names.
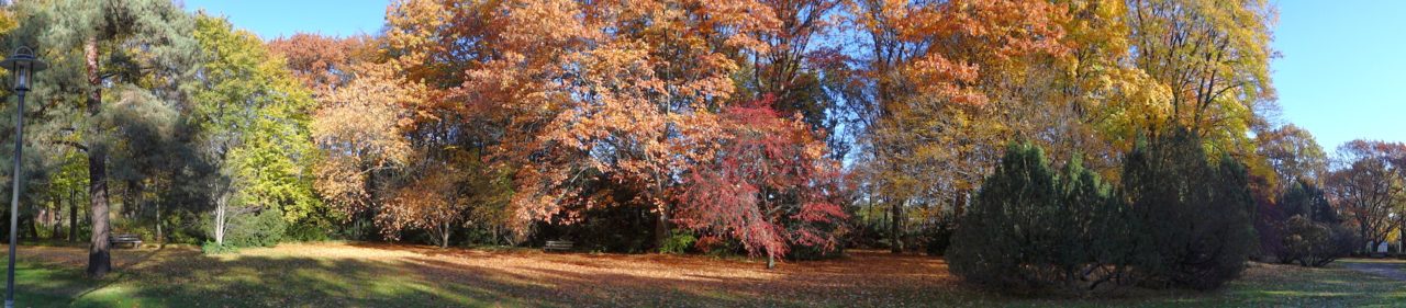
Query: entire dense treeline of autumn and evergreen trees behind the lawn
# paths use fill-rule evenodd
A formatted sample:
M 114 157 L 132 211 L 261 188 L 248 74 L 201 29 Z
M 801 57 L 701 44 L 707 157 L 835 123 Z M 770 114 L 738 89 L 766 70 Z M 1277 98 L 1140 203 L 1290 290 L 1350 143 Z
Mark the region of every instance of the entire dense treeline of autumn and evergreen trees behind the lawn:
M 396 0 L 378 34 L 269 41 L 166 0 L 3 13 L 6 46 L 52 64 L 25 113 L 27 237 L 86 232 L 94 276 L 136 232 L 769 260 L 952 244 L 977 283 L 1213 288 L 1406 225 L 1406 146 L 1329 160 L 1274 118 L 1264 0 Z

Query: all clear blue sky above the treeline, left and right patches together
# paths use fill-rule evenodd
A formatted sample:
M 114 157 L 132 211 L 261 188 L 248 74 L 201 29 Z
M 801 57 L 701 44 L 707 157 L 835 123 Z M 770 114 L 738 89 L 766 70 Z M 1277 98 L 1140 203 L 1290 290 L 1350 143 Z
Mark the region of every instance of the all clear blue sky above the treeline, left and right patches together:
M 1353 139 L 1406 141 L 1406 1 L 1275 0 L 1281 120 L 1324 150 Z M 186 0 L 263 38 L 374 34 L 388 0 Z

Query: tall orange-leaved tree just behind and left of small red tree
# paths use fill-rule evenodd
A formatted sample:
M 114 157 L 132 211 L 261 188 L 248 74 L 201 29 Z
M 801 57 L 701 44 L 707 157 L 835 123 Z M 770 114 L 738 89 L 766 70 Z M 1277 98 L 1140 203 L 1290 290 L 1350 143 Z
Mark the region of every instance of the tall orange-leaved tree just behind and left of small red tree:
M 576 97 L 551 118 L 538 141 L 517 151 L 548 153 L 524 162 L 515 204 L 585 200 L 593 181 L 637 183 L 640 203 L 659 217 L 655 239 L 666 237 L 671 207 L 665 196 L 673 174 L 709 153 L 693 151 L 711 140 L 716 108 L 730 102 L 740 70 L 737 52 L 766 52 L 749 35 L 775 28 L 775 15 L 758 1 L 620 1 L 581 10 L 599 45 L 578 53 L 569 88 Z M 666 22 L 651 22 L 651 21 Z M 603 31 L 603 29 L 619 31 Z M 582 155 L 585 154 L 585 155 Z M 576 178 L 572 174 L 599 174 Z M 589 203 L 586 203 L 589 207 Z M 534 217 L 527 216 L 527 217 Z

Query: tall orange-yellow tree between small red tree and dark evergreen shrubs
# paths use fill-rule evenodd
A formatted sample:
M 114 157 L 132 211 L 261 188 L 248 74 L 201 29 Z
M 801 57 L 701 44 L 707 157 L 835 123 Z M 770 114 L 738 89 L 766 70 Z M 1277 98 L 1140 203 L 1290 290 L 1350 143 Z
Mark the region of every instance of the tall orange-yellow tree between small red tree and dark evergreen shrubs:
M 858 105 L 900 252 L 905 207 L 974 189 L 994 164 L 1008 136 L 984 120 L 994 119 L 988 102 L 1002 99 L 998 81 L 1019 77 L 1024 59 L 1063 55 L 1067 17 L 1043 1 L 859 0 L 846 11 L 863 46 L 846 99 Z

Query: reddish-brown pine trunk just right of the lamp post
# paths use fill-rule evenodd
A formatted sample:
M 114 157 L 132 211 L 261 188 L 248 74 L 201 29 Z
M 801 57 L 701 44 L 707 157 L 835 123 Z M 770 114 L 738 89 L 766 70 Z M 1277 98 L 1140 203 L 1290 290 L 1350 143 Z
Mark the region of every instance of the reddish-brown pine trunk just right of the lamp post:
M 87 112 L 90 118 L 97 118 L 103 104 L 103 80 L 98 77 L 97 36 L 89 36 L 83 45 L 83 55 L 87 60 L 87 81 L 93 91 L 89 92 Z M 107 217 L 107 150 L 97 144 L 97 134 L 101 129 L 90 125 L 89 132 L 89 196 L 93 207 L 93 242 L 89 245 L 87 274 L 93 279 L 107 276 L 112 270 L 112 256 L 110 255 L 108 217 Z

